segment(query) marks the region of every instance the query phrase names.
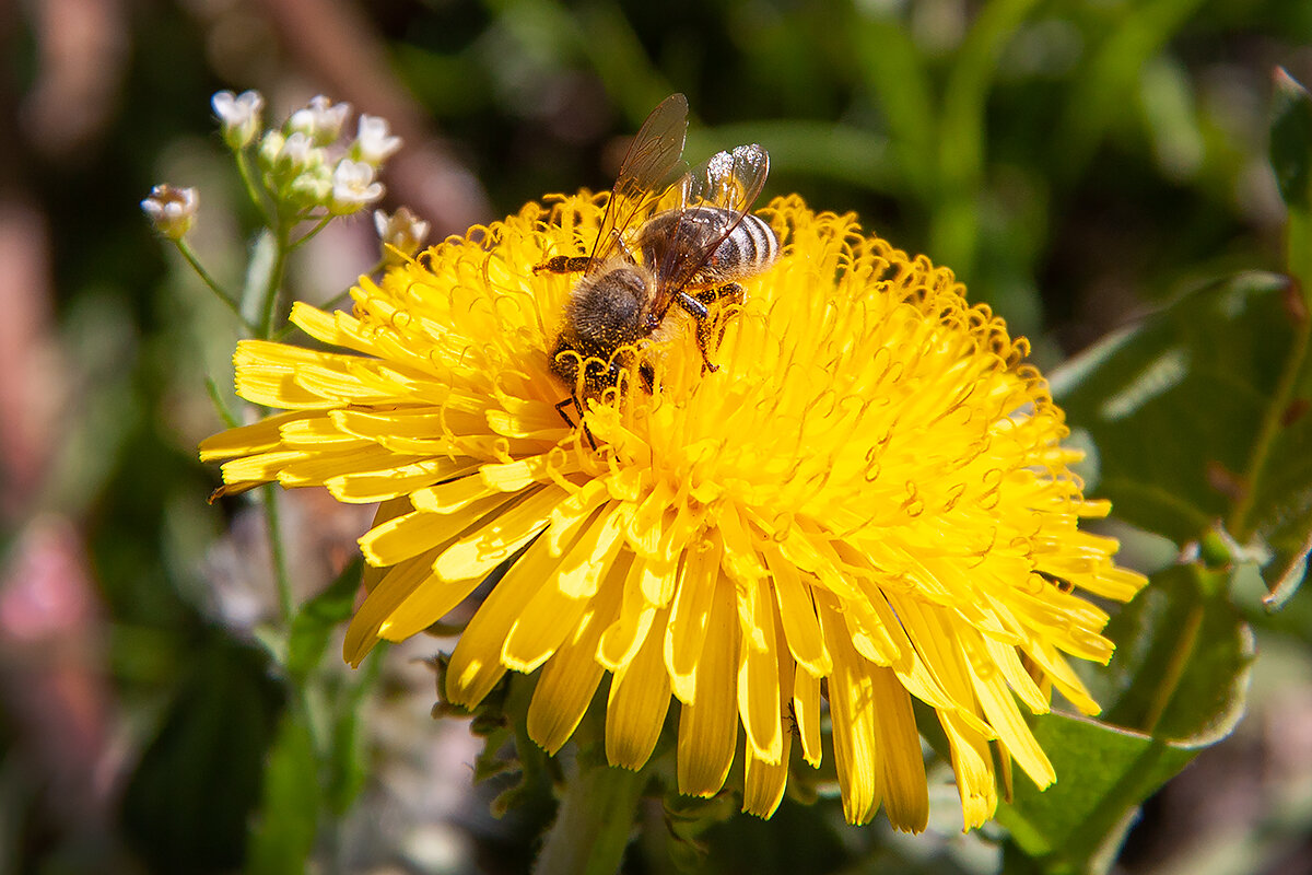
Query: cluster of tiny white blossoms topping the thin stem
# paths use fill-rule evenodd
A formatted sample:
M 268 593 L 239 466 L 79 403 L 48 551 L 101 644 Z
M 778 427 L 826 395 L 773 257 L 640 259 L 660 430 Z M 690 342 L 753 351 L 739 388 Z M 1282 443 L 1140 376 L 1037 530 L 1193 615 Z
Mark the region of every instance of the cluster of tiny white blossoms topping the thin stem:
M 279 207 L 286 205 L 306 218 L 320 209 L 328 215 L 349 215 L 383 197 L 378 171 L 401 146 L 400 138 L 390 134 L 387 119 L 361 114 L 356 138 L 342 143 L 350 104 L 333 104 L 320 94 L 281 129 L 261 136 L 264 97 L 257 92 L 219 92 L 213 105 L 230 148 L 255 146 L 261 181 Z

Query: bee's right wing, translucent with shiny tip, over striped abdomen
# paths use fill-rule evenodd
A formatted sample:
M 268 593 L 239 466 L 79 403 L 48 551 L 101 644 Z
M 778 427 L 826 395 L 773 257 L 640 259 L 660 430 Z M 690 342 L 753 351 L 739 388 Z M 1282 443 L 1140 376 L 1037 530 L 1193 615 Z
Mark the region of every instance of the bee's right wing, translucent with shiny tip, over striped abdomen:
M 743 220 L 743 216 L 765 186 L 765 177 L 770 173 L 770 155 L 764 148 L 752 143 L 739 146 L 732 152 L 718 152 L 708 157 L 685 176 L 680 186 L 678 218 L 670 226 L 672 240 L 697 240 L 698 234 L 690 226 L 698 220 L 695 214 L 689 213 L 691 207 L 714 206 L 724 210 L 726 222 L 716 234 L 706 235 L 698 240 L 695 249 L 666 247 L 660 264 L 653 265 L 656 275 L 656 300 L 652 310 L 664 314 L 674 294 L 689 283 L 694 274 L 702 269 L 711 253 L 729 236 L 733 228 Z

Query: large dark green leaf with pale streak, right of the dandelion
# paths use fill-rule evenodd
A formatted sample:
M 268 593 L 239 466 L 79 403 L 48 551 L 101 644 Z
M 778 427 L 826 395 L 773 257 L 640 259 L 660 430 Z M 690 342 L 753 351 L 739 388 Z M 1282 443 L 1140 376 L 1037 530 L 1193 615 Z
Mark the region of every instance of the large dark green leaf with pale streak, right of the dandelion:
M 1052 374 L 1118 517 L 1185 544 L 1221 521 L 1277 589 L 1312 544 L 1308 319 L 1287 278 L 1186 295 Z

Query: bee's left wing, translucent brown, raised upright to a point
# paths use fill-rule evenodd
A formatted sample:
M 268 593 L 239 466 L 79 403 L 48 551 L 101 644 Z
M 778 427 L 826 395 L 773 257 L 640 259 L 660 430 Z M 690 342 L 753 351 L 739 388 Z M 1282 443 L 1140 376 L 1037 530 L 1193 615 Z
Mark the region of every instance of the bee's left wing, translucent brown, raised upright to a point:
M 687 98 L 670 94 L 643 122 L 634 136 L 615 188 L 606 203 L 606 216 L 592 249 L 588 273 L 597 270 L 621 244 L 623 232 L 642 223 L 661 193 L 669 188 L 673 171 L 684 155 L 687 134 Z

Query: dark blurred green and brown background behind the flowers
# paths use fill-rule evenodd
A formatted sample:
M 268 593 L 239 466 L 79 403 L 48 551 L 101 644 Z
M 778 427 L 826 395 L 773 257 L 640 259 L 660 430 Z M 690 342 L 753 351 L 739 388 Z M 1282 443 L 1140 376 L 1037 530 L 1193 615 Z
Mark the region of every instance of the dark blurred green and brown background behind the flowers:
M 206 380 L 231 392 L 236 329 L 138 206 L 157 182 L 199 188 L 192 243 L 240 285 L 256 218 L 215 91 L 258 89 L 273 122 L 316 93 L 386 117 L 405 140 L 386 207 L 429 219 L 432 241 L 609 188 L 625 136 L 681 91 L 693 161 L 764 144 L 762 202 L 858 213 L 1054 367 L 1199 283 L 1279 268 L 1271 71 L 1312 83 L 1312 4 L 33 0 L 0 5 L 0 871 L 223 872 L 283 707 L 256 631 L 273 585 L 255 512 L 207 505 L 218 472 L 195 455 L 222 428 Z M 377 254 L 371 220 L 335 223 L 291 286 L 328 300 Z M 310 594 L 370 513 L 286 499 Z M 1248 718 L 1149 800 L 1120 870 L 1312 872 L 1312 606 L 1252 614 Z M 416 660 L 438 645 L 394 648 L 365 706 L 342 871 L 523 871 L 551 813 L 487 813 L 478 744 L 428 716 Z M 769 826 L 712 829 L 703 862 L 996 870 L 988 830 L 959 836 L 950 787 L 934 794 L 918 840 L 786 803 Z

